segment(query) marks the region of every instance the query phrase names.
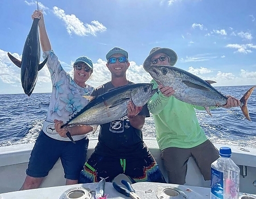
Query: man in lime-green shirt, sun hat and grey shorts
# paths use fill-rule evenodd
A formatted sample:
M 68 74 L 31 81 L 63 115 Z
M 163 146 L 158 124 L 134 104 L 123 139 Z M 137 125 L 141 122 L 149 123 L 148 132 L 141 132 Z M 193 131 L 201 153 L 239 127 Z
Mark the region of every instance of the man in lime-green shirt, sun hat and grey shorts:
M 143 63 L 143 68 L 152 65 L 174 66 L 176 53 L 170 48 L 156 47 Z M 172 96 L 175 90 L 170 86 L 158 85 L 151 81 L 154 88 L 160 89 L 159 94 L 148 101 L 148 110 L 155 121 L 156 140 L 161 150 L 161 159 L 167 170 L 168 183 L 185 184 L 189 157 L 195 159 L 204 180 L 210 180 L 210 164 L 218 159 L 218 150 L 207 138 L 197 121 L 195 109 L 204 107 L 193 106 Z M 224 107 L 240 106 L 240 101 L 228 96 Z

